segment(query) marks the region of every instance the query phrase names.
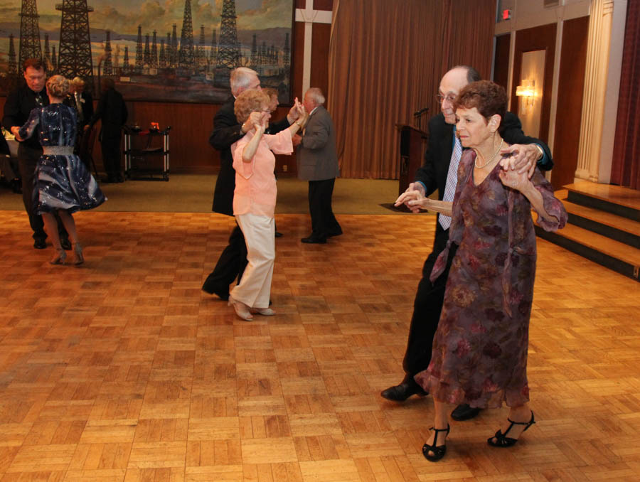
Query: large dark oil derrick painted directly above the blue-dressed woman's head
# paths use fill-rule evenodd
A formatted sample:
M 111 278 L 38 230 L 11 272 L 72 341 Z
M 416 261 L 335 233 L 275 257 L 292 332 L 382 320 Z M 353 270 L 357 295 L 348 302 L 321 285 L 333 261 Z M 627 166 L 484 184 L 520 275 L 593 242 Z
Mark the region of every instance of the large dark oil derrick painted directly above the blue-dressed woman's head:
M 89 36 L 89 13 L 93 8 L 87 6 L 87 0 L 63 0 L 55 9 L 62 12 L 58 74 L 68 79 L 82 77 L 87 82 L 87 88 L 93 91 L 93 60 Z

